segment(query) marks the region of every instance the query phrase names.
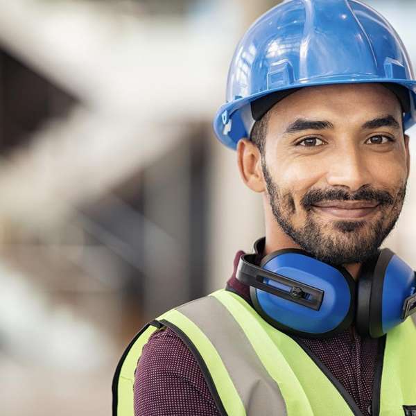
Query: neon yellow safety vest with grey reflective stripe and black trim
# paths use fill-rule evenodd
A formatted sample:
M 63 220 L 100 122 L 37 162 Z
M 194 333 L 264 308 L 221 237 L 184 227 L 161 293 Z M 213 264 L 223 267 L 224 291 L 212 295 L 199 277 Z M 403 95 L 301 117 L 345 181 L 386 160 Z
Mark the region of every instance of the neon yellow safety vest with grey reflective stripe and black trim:
M 113 416 L 134 416 L 137 361 L 150 335 L 164 326 L 191 349 L 221 415 L 363 416 L 304 345 L 268 324 L 239 295 L 223 289 L 171 309 L 137 334 L 114 374 Z M 393 328 L 381 345 L 372 414 L 416 415 L 413 320 L 409 317 Z

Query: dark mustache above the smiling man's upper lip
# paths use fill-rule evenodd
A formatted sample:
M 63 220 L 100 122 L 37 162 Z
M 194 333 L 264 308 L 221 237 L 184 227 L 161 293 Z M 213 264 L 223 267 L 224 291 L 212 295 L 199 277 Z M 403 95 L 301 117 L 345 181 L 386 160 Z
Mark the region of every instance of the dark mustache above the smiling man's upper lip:
M 381 191 L 370 186 L 363 186 L 356 192 L 347 192 L 345 189 L 310 189 L 300 201 L 302 207 L 310 209 L 312 205 L 324 201 L 371 201 L 379 205 L 392 205 L 395 198 L 388 191 Z

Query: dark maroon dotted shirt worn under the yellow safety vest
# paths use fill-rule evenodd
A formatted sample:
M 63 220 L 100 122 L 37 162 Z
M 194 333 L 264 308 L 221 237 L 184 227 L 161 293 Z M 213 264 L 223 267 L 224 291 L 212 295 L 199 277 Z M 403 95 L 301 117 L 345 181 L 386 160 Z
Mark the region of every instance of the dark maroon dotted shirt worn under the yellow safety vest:
M 236 254 L 227 288 L 252 304 L 249 287 L 236 279 L 241 254 Z M 363 415 L 371 414 L 378 340 L 361 338 L 354 327 L 322 340 L 293 338 L 327 367 Z M 150 336 L 135 374 L 135 416 L 162 415 L 220 415 L 196 359 L 175 332 L 166 328 Z

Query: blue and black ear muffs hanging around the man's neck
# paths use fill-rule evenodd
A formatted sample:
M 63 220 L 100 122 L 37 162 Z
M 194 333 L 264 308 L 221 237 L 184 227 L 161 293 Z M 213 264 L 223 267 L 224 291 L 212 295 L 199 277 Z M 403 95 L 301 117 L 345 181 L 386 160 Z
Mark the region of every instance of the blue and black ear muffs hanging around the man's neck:
M 250 286 L 254 309 L 273 327 L 312 338 L 326 338 L 356 321 L 363 336 L 377 338 L 416 311 L 415 273 L 391 250 L 363 263 L 358 284 L 343 267 L 334 267 L 303 250 L 285 249 L 256 263 L 241 256 L 236 277 Z

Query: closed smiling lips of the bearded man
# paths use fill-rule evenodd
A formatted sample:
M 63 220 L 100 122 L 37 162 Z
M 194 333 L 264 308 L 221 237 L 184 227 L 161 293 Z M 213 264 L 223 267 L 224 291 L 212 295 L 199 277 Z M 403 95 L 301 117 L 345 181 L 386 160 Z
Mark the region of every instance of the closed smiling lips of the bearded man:
M 372 214 L 378 206 L 372 201 L 324 201 L 312 205 L 322 214 L 345 219 L 363 218 Z

